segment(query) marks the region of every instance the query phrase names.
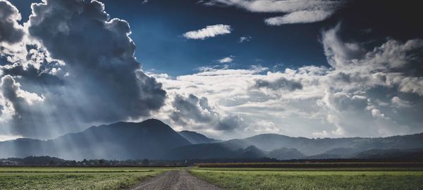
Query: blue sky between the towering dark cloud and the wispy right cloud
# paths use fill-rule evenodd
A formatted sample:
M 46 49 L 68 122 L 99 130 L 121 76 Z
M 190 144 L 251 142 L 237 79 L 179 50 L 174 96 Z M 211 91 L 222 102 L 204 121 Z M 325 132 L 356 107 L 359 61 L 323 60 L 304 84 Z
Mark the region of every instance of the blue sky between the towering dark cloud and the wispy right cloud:
M 204 6 L 197 1 L 103 2 L 111 18 L 121 18 L 130 24 L 130 37 L 137 45 L 135 56 L 143 68 L 173 76 L 196 72 L 196 68 L 204 65 L 216 65 L 218 59 L 227 56 L 235 56 L 235 68 L 257 64 L 266 67 L 283 64 L 279 69 L 309 64 L 327 66 L 319 32 L 325 25 L 336 25 L 336 20 L 331 20 L 307 25 L 269 26 L 263 20 L 274 13 Z M 25 1 L 16 6 L 27 9 L 27 4 Z M 25 20 L 29 12 L 22 14 Z M 204 40 L 183 37 L 185 32 L 216 24 L 231 25 L 233 31 Z M 238 43 L 240 37 L 251 39 Z

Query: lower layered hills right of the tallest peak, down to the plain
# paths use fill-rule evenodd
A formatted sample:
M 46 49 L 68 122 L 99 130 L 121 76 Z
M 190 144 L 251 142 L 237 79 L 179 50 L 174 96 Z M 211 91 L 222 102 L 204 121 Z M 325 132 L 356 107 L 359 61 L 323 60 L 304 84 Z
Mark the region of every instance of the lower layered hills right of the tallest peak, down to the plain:
M 259 134 L 246 139 L 233 139 L 215 144 L 193 144 L 178 147 L 171 155 L 180 159 L 209 158 L 276 158 L 291 159 L 329 159 L 329 158 L 366 158 L 358 156 L 375 149 L 405 150 L 423 148 L 423 134 L 384 138 L 339 138 L 307 139 L 288 137 L 280 134 Z M 380 153 L 380 151 L 379 151 Z M 368 154 L 368 153 L 367 153 Z M 169 154 L 168 154 L 169 155 Z M 367 158 L 381 158 L 375 153 Z

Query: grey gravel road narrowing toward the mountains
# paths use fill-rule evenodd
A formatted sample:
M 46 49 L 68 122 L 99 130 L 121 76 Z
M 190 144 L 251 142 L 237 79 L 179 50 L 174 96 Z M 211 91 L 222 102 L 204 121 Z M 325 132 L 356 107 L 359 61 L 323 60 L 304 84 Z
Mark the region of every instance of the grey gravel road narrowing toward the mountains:
M 171 170 L 157 177 L 142 182 L 132 190 L 222 190 L 190 175 L 187 170 Z

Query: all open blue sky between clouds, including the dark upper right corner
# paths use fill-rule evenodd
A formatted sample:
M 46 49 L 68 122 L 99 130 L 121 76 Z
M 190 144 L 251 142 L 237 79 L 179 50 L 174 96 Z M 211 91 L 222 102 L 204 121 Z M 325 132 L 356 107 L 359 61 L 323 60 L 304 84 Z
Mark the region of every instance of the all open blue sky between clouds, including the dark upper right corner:
M 23 15 L 30 15 L 30 3 L 12 1 Z M 204 6 L 197 0 L 187 1 L 115 1 L 104 0 L 111 18 L 127 20 L 131 38 L 137 45 L 135 56 L 151 72 L 178 76 L 192 74 L 197 68 L 218 65 L 220 58 L 234 56 L 233 68 L 262 65 L 278 70 L 302 65 L 324 65 L 321 30 L 342 23 L 345 39 L 381 44 L 386 37 L 410 39 L 422 37 L 423 29 L 414 25 L 418 16 L 410 6 L 380 1 L 345 1 L 333 16 L 316 23 L 266 25 L 265 18 L 281 13 L 252 13 L 234 6 Z M 374 10 L 378 8 L 378 13 Z M 407 11 L 408 10 L 408 11 Z M 414 13 L 413 13 L 414 12 Z M 185 39 L 183 34 L 207 25 L 231 25 L 231 34 L 204 40 Z M 402 28 L 402 30 L 398 30 Z M 238 43 L 240 37 L 251 37 Z

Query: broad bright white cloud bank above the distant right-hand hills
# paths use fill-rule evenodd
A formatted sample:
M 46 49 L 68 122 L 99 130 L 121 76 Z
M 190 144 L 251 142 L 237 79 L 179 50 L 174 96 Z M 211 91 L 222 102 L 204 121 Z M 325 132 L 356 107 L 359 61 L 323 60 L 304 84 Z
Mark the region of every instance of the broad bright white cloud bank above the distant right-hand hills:
M 219 114 L 243 118 L 243 125 L 233 129 L 235 137 L 269 130 L 295 137 L 423 132 L 423 118 L 418 114 L 423 111 L 422 39 L 387 39 L 366 47 L 341 40 L 340 31 L 337 25 L 321 34 L 329 68 L 214 67 L 157 80 L 170 94 L 207 97 Z M 213 128 L 199 131 L 226 137 Z

